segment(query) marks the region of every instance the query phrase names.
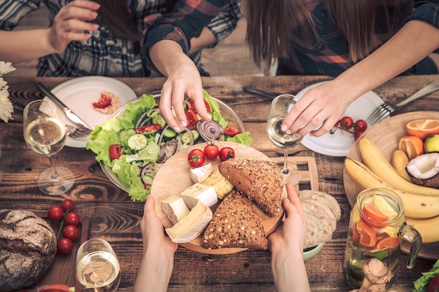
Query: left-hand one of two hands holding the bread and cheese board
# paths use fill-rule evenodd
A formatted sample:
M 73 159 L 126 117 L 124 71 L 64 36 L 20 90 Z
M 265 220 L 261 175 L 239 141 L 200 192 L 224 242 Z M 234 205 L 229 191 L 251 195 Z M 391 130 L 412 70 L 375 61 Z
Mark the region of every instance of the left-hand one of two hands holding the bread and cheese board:
M 165 235 L 163 224 L 158 218 L 155 210 L 155 200 L 152 195 L 147 195 L 147 201 L 144 204 L 144 214 L 140 221 L 140 230 L 142 230 L 143 251 L 153 251 L 160 255 L 173 256 L 177 250 L 177 244 Z

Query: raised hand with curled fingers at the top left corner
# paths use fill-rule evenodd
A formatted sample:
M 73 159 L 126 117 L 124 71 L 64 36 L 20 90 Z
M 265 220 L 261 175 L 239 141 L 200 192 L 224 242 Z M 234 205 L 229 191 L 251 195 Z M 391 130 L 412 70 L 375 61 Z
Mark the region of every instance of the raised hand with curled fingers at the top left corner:
M 55 52 L 62 52 L 71 41 L 90 39 L 90 32 L 99 27 L 90 23 L 97 18 L 100 5 L 95 1 L 75 0 L 62 7 L 53 19 L 48 32 L 50 46 Z

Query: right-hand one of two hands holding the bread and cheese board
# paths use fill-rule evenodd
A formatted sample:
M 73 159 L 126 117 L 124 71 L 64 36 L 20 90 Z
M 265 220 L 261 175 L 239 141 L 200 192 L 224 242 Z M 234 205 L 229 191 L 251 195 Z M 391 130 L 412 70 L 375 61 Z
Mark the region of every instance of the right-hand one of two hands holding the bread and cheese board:
M 283 224 L 269 235 L 269 250 L 271 253 L 288 253 L 289 251 L 303 253 L 307 230 L 306 218 L 295 188 L 291 183 L 287 183 L 286 187 L 288 197 L 282 201 L 286 218 Z

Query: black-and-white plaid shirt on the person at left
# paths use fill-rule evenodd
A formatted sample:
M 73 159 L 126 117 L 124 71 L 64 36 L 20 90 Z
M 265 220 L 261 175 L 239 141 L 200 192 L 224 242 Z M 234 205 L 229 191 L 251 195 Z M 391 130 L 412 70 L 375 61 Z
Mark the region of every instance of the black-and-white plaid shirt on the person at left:
M 62 6 L 72 0 L 3 0 L 0 1 L 0 29 L 12 30 L 28 13 L 39 8 L 41 3 L 48 8 L 50 25 Z M 222 8 L 215 8 L 215 18 L 203 22 L 218 41 L 226 38 L 243 16 L 239 8 L 240 0 L 221 1 Z M 165 0 L 129 0 L 135 11 L 137 29 L 147 29 L 143 18 L 152 13 L 165 13 Z M 207 23 L 207 25 L 205 25 Z M 197 34 L 198 35 L 198 34 Z M 213 45 L 215 46 L 215 45 Z M 208 72 L 201 64 L 200 53 L 191 56 L 196 60 L 201 75 Z M 140 43 L 116 39 L 104 27 L 99 27 L 87 41 L 72 41 L 63 53 L 39 58 L 37 76 L 149 76 Z

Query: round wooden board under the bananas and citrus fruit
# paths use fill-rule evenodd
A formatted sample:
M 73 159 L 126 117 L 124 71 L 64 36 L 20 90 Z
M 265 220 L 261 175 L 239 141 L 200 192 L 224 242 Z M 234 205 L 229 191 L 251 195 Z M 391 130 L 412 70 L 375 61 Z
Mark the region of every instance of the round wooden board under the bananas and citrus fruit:
M 388 161 L 391 161 L 392 153 L 398 148 L 398 141 L 400 137 L 407 135 L 405 132 L 405 125 L 411 120 L 418 120 L 421 118 L 435 118 L 439 120 L 439 113 L 437 111 L 414 111 L 412 113 L 403 113 L 392 118 L 381 121 L 367 130 L 363 137 L 367 137 L 370 141 L 377 144 L 379 150 L 383 153 Z M 358 140 L 353 144 L 349 151 L 348 158 L 361 161 L 360 149 L 358 147 Z M 360 193 L 360 188 L 349 178 L 346 171 L 343 173 L 344 189 L 346 190 L 346 197 L 351 204 L 356 203 L 357 195 Z M 439 206 L 438 206 L 439 208 Z M 410 252 L 410 245 L 403 243 L 402 250 L 405 253 Z M 419 250 L 420 258 L 428 258 L 436 260 L 439 258 L 439 242 L 432 242 L 429 244 L 422 244 Z

